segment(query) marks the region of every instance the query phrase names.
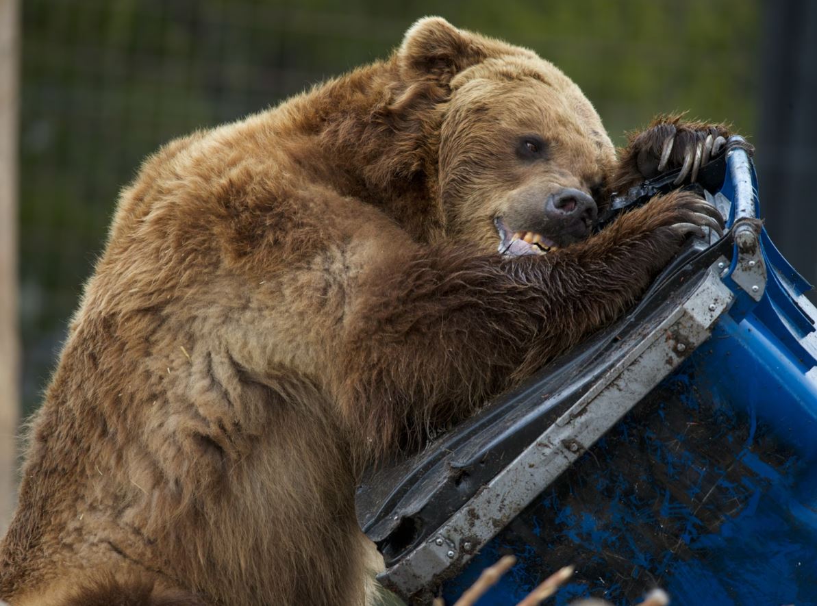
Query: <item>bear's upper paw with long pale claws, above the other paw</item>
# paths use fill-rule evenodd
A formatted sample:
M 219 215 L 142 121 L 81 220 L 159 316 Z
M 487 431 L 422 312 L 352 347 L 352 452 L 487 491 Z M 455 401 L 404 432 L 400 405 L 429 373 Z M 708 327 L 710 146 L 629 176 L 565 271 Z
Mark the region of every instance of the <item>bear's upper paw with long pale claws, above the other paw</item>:
M 641 132 L 631 146 L 641 176 L 650 179 L 680 167 L 673 183 L 681 185 L 698 179 L 700 167 L 721 154 L 730 134 L 721 124 L 671 120 Z

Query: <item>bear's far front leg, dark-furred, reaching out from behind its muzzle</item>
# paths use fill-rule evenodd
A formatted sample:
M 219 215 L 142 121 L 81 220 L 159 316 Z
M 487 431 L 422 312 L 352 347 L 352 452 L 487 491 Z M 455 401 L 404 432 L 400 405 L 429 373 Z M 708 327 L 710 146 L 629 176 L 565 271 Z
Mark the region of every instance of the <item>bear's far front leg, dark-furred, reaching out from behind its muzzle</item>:
M 624 193 L 646 179 L 681 168 L 675 185 L 694 183 L 701 167 L 725 149 L 734 133 L 725 124 L 687 122 L 682 116 L 659 116 L 645 131 L 630 137 L 619 152 L 612 189 Z M 746 149 L 753 151 L 746 144 Z

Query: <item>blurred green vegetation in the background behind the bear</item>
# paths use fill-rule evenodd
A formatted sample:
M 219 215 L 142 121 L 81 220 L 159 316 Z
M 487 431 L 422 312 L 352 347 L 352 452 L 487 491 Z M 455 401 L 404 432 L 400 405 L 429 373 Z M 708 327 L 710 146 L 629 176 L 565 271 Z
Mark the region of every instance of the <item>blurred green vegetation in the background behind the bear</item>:
M 26 0 L 20 125 L 25 412 L 47 383 L 118 189 L 164 141 L 386 54 L 420 16 L 530 47 L 619 143 L 690 109 L 756 129 L 757 0 Z

